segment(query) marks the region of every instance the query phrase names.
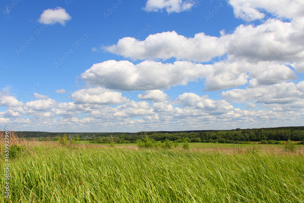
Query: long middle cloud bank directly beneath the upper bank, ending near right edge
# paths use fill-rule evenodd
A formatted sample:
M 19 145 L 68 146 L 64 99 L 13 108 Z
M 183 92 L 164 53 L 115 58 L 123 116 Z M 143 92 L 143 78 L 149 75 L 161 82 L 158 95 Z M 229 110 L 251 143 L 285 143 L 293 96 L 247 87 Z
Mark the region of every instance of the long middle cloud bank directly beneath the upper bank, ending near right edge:
M 259 86 L 294 80 L 297 75 L 289 67 L 274 61 L 266 65 L 246 61 L 219 61 L 206 65 L 189 61 L 175 61 L 174 64 L 143 61 L 134 65 L 130 61 L 110 60 L 94 64 L 81 74 L 81 78 L 87 85 L 121 91 L 170 89 L 189 82 L 202 82 L 205 91 L 214 91 L 245 85 L 248 79 L 250 86 Z

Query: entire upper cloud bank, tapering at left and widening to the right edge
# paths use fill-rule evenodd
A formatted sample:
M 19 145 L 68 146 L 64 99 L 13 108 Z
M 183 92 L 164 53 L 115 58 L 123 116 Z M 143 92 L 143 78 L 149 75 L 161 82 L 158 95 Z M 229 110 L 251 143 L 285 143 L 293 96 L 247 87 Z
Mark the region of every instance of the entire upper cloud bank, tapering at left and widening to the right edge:
M 231 34 L 220 37 L 197 33 L 193 38 L 175 31 L 149 35 L 140 41 L 124 37 L 117 44 L 102 47 L 105 51 L 133 60 L 176 58 L 197 62 L 210 61 L 224 54 L 233 60 L 301 62 L 304 58 L 304 18 L 290 23 L 268 19 L 252 26 L 240 25 Z

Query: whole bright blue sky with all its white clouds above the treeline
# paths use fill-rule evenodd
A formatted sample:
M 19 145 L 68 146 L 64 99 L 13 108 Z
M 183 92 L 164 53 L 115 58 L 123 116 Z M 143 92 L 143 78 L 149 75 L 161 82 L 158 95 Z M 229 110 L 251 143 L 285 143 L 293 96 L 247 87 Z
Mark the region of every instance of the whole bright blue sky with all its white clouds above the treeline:
M 1 129 L 303 126 L 303 0 L 2 0 Z

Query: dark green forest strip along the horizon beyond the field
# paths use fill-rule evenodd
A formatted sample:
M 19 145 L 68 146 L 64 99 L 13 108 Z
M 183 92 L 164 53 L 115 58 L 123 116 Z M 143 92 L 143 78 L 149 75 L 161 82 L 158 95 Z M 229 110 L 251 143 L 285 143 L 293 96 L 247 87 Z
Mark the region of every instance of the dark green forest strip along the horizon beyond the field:
M 37 138 L 37 140 L 57 140 L 57 136 L 66 134 L 71 138 L 79 137 L 80 140 L 89 140 L 97 143 L 109 143 L 109 137 L 112 135 L 116 143 L 136 142 L 148 136 L 156 141 L 182 140 L 188 138 L 190 142 L 212 142 L 217 140 L 219 143 L 229 143 L 229 140 L 235 142 L 260 142 L 261 140 L 292 141 L 304 140 L 304 126 L 301 127 L 279 127 L 279 128 L 259 128 L 259 129 L 240 129 L 240 130 L 195 130 L 195 131 L 151 131 L 151 132 L 36 132 L 19 131 L 16 132 L 19 137 Z

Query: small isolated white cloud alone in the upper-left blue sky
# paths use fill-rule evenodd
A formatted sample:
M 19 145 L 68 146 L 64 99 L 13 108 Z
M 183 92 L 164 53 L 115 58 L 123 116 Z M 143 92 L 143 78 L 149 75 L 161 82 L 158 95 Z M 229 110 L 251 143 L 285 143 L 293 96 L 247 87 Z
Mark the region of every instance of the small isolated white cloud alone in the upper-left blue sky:
M 65 9 L 56 7 L 55 9 L 44 10 L 39 18 L 39 23 L 51 25 L 60 23 L 64 26 L 65 23 L 71 19 L 72 17 L 65 11 Z

